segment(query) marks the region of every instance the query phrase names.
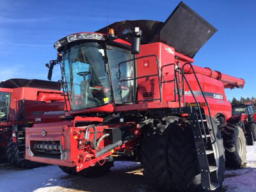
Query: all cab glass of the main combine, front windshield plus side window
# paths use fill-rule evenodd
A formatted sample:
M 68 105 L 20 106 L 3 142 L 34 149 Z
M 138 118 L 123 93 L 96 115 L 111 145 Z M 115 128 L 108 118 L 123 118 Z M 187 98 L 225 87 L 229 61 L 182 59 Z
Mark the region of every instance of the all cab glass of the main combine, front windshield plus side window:
M 96 108 L 112 101 L 121 104 L 132 100 L 134 81 L 119 83 L 122 79 L 133 78 L 132 62 L 120 66 L 121 77 L 118 77 L 118 63 L 131 60 L 132 57 L 130 51 L 111 46 L 105 51 L 97 43 L 84 43 L 67 49 L 63 53 L 63 66 L 72 110 Z

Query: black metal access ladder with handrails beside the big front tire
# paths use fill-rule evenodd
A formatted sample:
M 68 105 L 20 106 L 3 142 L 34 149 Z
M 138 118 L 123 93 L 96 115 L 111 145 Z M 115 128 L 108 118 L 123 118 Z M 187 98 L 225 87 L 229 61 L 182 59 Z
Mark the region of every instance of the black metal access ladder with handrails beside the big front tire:
M 193 70 L 193 74 L 195 76 L 196 82 L 198 83 L 200 91 L 202 92 L 202 95 L 204 97 L 205 104 L 209 111 L 209 122 L 207 122 L 204 108 L 200 108 L 200 104 L 198 103 L 195 97 L 195 94 L 193 93 L 193 90 L 191 89 L 191 86 L 188 80 L 186 79 L 186 76 L 184 74 L 185 65 L 190 65 L 191 69 Z M 191 65 L 191 63 L 185 63 L 184 66 L 183 68 L 175 69 L 175 80 L 177 84 L 177 93 L 179 95 L 179 106 L 181 108 L 181 97 L 180 97 L 180 91 L 179 91 L 177 72 L 180 72 L 182 75 L 183 93 L 184 93 L 184 83 L 186 81 L 186 84 L 188 85 L 188 88 L 192 93 L 197 106 L 197 107 L 191 107 L 191 113 L 188 113 L 188 115 L 189 115 L 189 120 L 191 122 L 193 138 L 195 141 L 196 156 L 198 159 L 198 164 L 199 164 L 200 173 L 201 173 L 202 188 L 205 189 L 206 191 L 214 191 L 217 188 L 219 188 L 219 184 L 218 184 L 218 166 L 216 164 L 216 160 L 214 157 L 214 149 L 213 149 L 213 144 L 216 142 L 216 137 L 213 130 L 211 110 L 209 108 L 207 99 L 204 95 L 204 91 L 200 86 L 200 82 L 198 81 L 198 78 L 196 76 L 193 66 Z M 183 101 L 184 109 L 186 109 L 185 95 L 183 96 L 183 99 L 184 99 Z M 211 124 L 211 129 L 209 127 L 209 124 Z M 212 137 L 211 137 L 211 132 L 212 132 Z

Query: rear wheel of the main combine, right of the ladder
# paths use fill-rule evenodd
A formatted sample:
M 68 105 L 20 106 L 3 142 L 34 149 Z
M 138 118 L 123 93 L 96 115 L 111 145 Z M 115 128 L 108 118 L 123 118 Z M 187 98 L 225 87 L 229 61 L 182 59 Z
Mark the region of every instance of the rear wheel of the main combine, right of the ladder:
M 238 125 L 221 124 L 219 126 L 225 148 L 227 168 L 241 168 L 246 159 L 246 139 Z

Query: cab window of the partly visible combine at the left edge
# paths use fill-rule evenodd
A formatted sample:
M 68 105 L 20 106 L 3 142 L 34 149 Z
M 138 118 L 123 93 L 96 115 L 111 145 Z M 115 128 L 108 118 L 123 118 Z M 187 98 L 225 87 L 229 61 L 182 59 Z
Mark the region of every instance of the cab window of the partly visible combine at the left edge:
M 9 114 L 10 93 L 0 92 L 0 121 L 7 120 Z

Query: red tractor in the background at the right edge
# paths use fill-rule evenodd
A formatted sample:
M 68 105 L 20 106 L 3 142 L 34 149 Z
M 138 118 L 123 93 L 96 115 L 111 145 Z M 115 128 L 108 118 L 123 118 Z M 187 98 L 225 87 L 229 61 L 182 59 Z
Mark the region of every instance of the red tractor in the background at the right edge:
M 244 128 L 248 145 L 253 145 L 253 141 L 256 141 L 256 112 L 253 107 L 253 103 L 232 105 L 232 118 L 230 119 Z

